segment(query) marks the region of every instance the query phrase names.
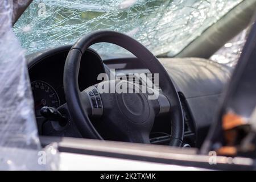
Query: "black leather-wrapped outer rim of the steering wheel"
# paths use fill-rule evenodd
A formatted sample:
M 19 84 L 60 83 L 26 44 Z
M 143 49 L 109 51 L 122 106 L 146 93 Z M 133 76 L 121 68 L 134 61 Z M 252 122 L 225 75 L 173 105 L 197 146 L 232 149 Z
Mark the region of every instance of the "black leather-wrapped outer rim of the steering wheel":
M 158 59 L 137 40 L 115 31 L 94 31 L 82 36 L 70 49 L 64 67 L 64 92 L 73 121 L 82 137 L 103 139 L 84 112 L 79 90 L 80 61 L 87 48 L 95 43 L 112 43 L 133 53 L 151 73 L 159 73 L 159 86 L 171 103 L 171 146 L 181 146 L 184 137 L 184 119 L 181 102 L 174 83 Z

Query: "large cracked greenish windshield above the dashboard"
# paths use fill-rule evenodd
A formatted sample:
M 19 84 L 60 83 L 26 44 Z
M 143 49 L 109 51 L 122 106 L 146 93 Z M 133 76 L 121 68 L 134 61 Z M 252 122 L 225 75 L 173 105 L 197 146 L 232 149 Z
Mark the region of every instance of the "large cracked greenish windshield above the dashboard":
M 27 54 L 73 44 L 93 30 L 132 36 L 155 55 L 175 56 L 242 0 L 34 0 L 14 26 Z M 126 53 L 96 44 L 101 55 Z

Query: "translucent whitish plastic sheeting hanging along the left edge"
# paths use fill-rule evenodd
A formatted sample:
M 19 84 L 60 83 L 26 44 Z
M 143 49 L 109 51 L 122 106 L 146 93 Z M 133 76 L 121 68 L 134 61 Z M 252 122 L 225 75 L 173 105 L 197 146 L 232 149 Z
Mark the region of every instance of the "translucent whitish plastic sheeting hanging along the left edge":
M 24 49 L 12 30 L 27 0 L 0 0 L 0 169 L 49 169 L 39 164 L 38 129 Z M 47 154 L 44 151 L 44 154 Z

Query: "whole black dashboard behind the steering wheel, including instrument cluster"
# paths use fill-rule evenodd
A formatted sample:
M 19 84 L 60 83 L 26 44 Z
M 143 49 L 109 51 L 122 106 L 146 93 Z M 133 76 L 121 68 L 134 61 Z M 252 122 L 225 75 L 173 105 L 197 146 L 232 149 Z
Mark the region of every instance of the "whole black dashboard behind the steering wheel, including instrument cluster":
M 59 107 L 65 104 L 63 71 L 65 59 L 71 46 L 63 46 L 40 51 L 27 56 L 31 88 L 35 102 L 38 126 L 42 125 L 40 108 L 44 105 Z M 102 67 L 102 59 L 104 67 Z M 82 56 L 79 87 L 80 90 L 100 82 L 100 73 L 149 73 L 136 57 L 101 57 L 88 49 Z M 204 59 L 159 59 L 167 69 L 178 90 L 183 106 L 185 133 L 184 141 L 192 147 L 200 147 L 208 133 L 214 110 L 222 89 L 229 79 L 230 70 L 217 63 Z M 170 140 L 171 123 L 168 115 L 155 118 L 151 131 L 151 143 L 167 144 Z M 72 124 L 73 126 L 73 124 Z M 75 127 L 75 126 L 73 126 Z M 51 131 L 45 135 L 80 137 L 76 129 Z M 39 129 L 42 134 L 42 130 Z

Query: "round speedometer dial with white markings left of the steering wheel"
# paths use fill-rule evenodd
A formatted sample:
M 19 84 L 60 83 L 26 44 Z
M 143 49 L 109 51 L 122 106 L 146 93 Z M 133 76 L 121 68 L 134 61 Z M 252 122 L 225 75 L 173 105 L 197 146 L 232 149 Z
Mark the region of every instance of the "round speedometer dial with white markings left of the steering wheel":
M 35 115 L 41 117 L 40 109 L 43 106 L 59 107 L 60 100 L 56 91 L 51 85 L 44 81 L 33 81 L 31 82 L 31 89 L 34 97 L 35 104 Z

